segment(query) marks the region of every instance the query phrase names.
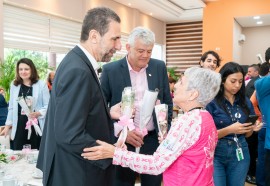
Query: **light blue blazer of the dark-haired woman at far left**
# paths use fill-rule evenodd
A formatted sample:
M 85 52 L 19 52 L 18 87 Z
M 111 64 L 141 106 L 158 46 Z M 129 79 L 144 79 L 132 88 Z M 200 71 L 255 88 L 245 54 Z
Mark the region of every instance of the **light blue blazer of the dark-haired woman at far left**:
M 33 87 L 33 97 L 35 98 L 34 111 L 40 112 L 41 116 L 39 116 L 38 121 L 43 131 L 45 116 L 47 112 L 47 107 L 49 104 L 50 93 L 47 87 L 47 84 L 44 81 L 39 80 L 37 83 L 32 85 Z M 8 107 L 8 116 L 6 120 L 6 125 L 12 125 L 11 130 L 11 140 L 14 139 L 17 123 L 18 123 L 18 102 L 17 98 L 20 92 L 21 85 L 15 86 L 13 82 L 10 85 L 10 101 Z

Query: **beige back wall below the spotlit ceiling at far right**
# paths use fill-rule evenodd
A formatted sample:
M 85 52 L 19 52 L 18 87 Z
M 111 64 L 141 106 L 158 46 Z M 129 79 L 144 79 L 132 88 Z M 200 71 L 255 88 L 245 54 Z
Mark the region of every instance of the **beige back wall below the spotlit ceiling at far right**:
M 242 49 L 242 63 L 259 63 L 257 54 L 261 54 L 265 61 L 265 51 L 270 47 L 270 26 L 243 28 L 242 33 L 246 36 Z

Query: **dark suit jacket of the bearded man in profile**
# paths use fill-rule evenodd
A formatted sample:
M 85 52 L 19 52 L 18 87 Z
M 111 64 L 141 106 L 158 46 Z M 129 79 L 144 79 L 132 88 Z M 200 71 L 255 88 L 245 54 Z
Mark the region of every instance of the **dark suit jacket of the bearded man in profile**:
M 112 182 L 112 159 L 81 157 L 96 139 L 112 143 L 113 126 L 95 71 L 76 46 L 61 62 L 47 111 L 37 167 L 44 185 L 100 186 Z

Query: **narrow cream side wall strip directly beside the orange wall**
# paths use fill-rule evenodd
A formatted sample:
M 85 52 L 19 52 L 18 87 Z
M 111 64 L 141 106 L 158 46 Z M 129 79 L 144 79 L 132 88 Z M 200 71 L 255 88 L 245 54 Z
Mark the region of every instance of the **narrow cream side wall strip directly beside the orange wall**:
M 243 42 L 239 42 L 239 36 L 242 33 L 242 27 L 234 20 L 233 24 L 233 61 L 242 64 L 241 54 Z

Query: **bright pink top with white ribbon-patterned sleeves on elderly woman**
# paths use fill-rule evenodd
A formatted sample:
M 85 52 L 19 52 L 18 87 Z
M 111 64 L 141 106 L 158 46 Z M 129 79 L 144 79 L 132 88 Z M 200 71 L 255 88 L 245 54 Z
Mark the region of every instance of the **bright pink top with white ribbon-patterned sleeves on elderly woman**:
M 163 173 L 164 186 L 204 186 L 213 183 L 217 130 L 204 110 L 185 113 L 172 123 L 166 139 L 153 155 L 116 148 L 113 164 L 140 174 Z

